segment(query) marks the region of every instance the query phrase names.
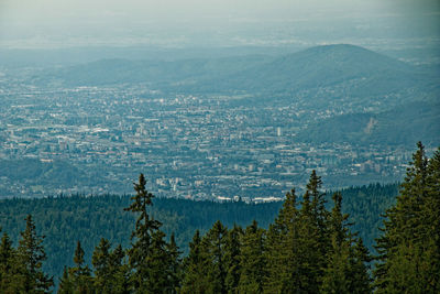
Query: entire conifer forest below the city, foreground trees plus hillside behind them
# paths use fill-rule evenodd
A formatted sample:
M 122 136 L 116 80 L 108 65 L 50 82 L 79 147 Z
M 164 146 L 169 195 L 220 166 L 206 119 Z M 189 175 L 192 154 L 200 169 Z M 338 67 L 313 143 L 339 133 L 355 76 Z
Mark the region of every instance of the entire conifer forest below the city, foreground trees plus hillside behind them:
M 3 200 L 0 292 L 53 291 L 56 281 L 43 263 L 63 252 L 73 262 L 58 272 L 59 293 L 438 293 L 440 150 L 428 160 L 419 143 L 411 164 L 396 200 L 397 185 L 326 195 L 315 171 L 302 195 L 293 188 L 283 204 L 156 199 L 142 174 L 130 198 Z M 54 203 L 62 209 L 52 210 Z M 167 207 L 173 204 L 184 213 Z M 201 217 L 189 217 L 197 205 Z M 388 205 L 382 233 L 375 235 Z M 20 220 L 28 215 L 20 222 L 24 229 L 12 215 Z M 102 230 L 102 224 L 112 230 Z M 69 246 L 45 239 L 44 231 L 68 236 Z M 19 237 L 16 246 L 9 236 Z M 106 238 L 95 241 L 99 237 Z M 378 237 L 377 257 L 363 241 L 372 244 L 373 237 Z

